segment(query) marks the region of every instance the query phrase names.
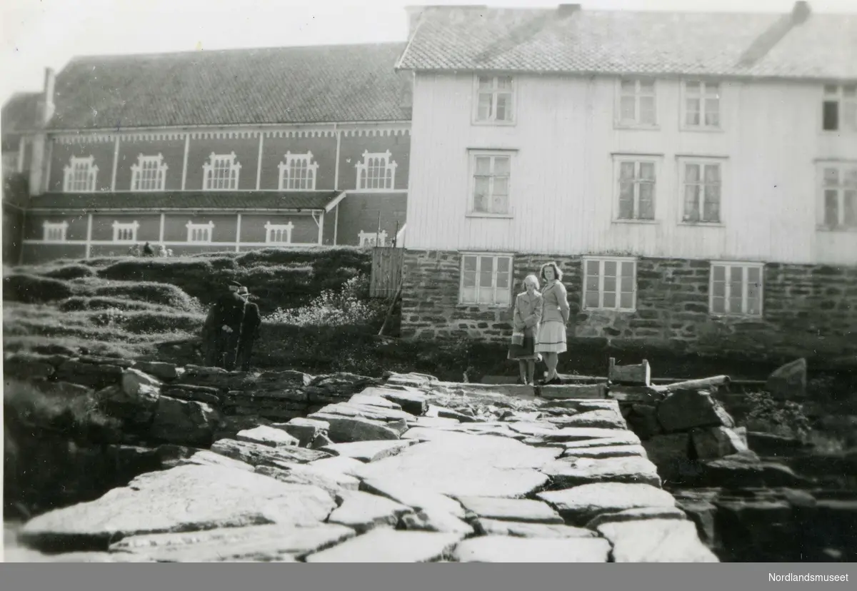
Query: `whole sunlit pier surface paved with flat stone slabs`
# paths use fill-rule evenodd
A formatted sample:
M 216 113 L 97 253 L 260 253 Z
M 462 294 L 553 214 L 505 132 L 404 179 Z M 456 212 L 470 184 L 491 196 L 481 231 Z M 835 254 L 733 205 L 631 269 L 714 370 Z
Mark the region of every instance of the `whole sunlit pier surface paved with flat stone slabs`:
M 309 384 L 309 413 L 244 417 L 125 487 L 33 517 L 7 560 L 717 561 L 619 402 L 592 388 L 534 397 L 423 374 L 355 384 L 323 396 Z M 285 418 L 294 401 L 278 392 L 266 404 Z M 237 390 L 229 403 L 246 405 Z

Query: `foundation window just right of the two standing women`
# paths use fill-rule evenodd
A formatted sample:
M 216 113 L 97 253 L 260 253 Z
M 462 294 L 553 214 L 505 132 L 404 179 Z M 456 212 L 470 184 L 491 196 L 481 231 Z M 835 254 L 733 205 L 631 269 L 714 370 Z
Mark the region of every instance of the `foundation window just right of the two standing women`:
M 633 310 L 637 305 L 637 261 L 584 260 L 584 307 Z

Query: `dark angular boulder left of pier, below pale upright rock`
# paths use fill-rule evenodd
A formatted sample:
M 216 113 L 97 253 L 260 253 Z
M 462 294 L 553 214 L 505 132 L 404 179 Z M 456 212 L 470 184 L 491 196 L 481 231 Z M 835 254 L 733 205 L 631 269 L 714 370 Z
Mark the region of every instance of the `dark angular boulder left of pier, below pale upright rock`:
M 169 443 L 207 446 L 219 421 L 219 413 L 206 403 L 161 396 L 149 435 Z

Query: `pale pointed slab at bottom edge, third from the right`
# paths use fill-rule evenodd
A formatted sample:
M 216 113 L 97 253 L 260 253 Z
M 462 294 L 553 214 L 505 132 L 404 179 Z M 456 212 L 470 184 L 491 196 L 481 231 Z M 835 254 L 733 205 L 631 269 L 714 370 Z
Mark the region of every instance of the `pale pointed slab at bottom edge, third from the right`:
M 463 534 L 378 528 L 310 554 L 306 562 L 435 562 L 451 553 Z

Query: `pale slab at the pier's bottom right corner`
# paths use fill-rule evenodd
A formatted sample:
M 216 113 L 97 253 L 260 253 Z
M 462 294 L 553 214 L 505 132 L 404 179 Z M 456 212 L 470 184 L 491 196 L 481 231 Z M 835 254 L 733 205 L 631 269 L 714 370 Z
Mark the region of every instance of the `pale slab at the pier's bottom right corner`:
M 614 562 L 720 562 L 687 521 L 611 522 L 598 532 L 613 544 Z

